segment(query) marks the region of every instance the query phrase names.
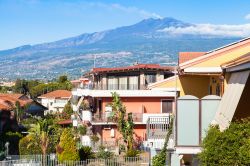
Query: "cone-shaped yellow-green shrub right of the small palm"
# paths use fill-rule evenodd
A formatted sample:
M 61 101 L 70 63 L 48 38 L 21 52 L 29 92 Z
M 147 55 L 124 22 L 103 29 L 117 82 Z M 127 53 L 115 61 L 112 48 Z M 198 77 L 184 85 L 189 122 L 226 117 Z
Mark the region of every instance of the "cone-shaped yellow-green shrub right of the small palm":
M 58 160 L 63 161 L 78 161 L 80 160 L 76 142 L 70 128 L 65 128 L 60 137 L 60 143 L 57 147 Z

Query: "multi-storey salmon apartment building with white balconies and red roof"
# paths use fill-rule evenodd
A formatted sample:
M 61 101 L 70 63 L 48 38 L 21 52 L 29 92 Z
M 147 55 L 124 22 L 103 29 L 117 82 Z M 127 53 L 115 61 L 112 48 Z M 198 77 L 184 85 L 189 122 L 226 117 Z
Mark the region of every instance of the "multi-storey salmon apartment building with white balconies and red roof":
M 74 110 L 79 112 L 81 121 L 91 125 L 92 133 L 100 138 L 100 144 L 116 147 L 121 134 L 117 131 L 116 122 L 109 119 L 112 93 L 116 92 L 126 112 L 132 113 L 135 140 L 141 146 L 161 149 L 169 116 L 175 107 L 176 92 L 170 89 L 148 90 L 147 86 L 172 75 L 172 67 L 152 64 L 94 68 L 84 74 L 89 79 L 88 85 L 72 91 L 73 98 L 78 102 Z M 85 106 L 81 107 L 81 103 Z M 88 138 L 82 140 L 83 144 L 86 140 Z

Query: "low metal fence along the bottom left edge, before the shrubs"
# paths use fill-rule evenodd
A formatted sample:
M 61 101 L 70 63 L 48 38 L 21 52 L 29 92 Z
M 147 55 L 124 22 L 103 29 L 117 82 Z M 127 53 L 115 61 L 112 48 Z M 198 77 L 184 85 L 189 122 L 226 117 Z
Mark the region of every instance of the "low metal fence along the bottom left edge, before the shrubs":
M 0 166 L 149 166 L 149 157 L 115 157 L 112 159 L 87 159 L 86 161 L 59 162 L 56 155 L 9 156 Z

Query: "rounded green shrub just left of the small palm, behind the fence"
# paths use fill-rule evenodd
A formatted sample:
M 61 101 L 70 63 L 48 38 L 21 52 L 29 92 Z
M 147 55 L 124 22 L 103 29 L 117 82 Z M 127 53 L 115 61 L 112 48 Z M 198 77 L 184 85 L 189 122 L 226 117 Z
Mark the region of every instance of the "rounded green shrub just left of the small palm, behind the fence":
M 40 141 L 33 135 L 27 135 L 19 141 L 19 155 L 42 154 Z

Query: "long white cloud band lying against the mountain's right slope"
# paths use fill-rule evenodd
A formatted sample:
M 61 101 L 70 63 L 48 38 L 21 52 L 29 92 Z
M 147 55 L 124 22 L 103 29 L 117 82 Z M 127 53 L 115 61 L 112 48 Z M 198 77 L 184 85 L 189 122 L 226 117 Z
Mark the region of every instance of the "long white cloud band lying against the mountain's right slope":
M 168 27 L 161 32 L 173 35 L 211 35 L 226 37 L 248 37 L 250 36 L 250 24 L 241 25 L 215 25 L 215 24 L 196 24 L 189 27 Z

